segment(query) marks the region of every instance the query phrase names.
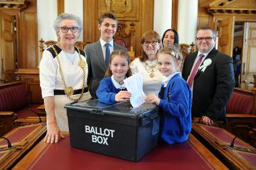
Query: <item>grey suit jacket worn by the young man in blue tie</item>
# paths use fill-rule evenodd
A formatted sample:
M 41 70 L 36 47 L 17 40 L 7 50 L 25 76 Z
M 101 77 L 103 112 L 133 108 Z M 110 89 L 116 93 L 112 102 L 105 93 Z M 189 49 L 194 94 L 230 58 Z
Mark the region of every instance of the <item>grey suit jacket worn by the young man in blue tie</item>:
M 126 50 L 124 47 L 119 46 L 114 42 L 114 50 L 119 49 Z M 86 60 L 88 64 L 88 87 L 90 87 L 92 97 L 96 97 L 96 90 L 107 69 L 100 41 L 88 44 L 84 48 L 84 51 L 86 52 Z

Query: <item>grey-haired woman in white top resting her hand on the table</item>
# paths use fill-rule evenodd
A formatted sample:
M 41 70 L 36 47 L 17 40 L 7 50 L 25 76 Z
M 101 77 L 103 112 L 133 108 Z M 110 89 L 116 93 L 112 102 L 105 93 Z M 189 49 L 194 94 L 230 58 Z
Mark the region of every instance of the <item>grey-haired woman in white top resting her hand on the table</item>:
M 79 17 L 61 13 L 53 24 L 57 44 L 44 50 L 40 61 L 40 87 L 46 111 L 44 141 L 58 142 L 68 132 L 66 103 L 90 99 L 86 54 L 75 46 L 82 31 Z

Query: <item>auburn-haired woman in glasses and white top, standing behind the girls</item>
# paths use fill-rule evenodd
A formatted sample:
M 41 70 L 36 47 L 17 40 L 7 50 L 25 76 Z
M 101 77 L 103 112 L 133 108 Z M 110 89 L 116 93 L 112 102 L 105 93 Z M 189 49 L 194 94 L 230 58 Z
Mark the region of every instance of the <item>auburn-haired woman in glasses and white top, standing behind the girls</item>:
M 158 71 L 156 54 L 161 46 L 161 39 L 157 32 L 148 31 L 141 37 L 142 55 L 131 62 L 133 74 L 141 73 L 143 91 L 146 95 L 160 91 L 164 76 Z

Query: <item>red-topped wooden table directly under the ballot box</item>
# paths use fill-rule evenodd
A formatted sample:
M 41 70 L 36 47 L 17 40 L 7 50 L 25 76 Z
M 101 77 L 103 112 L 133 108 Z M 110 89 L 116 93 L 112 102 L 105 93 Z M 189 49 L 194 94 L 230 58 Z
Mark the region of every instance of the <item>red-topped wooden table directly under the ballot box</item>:
M 39 142 L 13 169 L 227 169 L 193 136 L 181 144 L 159 144 L 137 162 L 70 146 L 69 135 L 59 143 Z

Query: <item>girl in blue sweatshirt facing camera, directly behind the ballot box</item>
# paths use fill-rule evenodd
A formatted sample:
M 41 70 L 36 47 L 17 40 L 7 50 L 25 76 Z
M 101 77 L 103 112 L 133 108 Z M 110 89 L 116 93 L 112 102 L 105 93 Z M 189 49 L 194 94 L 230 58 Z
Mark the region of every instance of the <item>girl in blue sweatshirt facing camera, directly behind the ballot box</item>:
M 98 100 L 108 104 L 128 101 L 131 93 L 126 90 L 123 80 L 129 76 L 131 76 L 129 54 L 124 50 L 114 50 L 110 55 L 105 78 L 100 81 L 96 91 Z

